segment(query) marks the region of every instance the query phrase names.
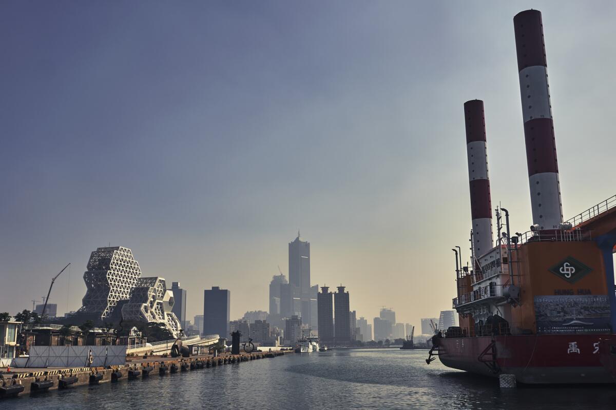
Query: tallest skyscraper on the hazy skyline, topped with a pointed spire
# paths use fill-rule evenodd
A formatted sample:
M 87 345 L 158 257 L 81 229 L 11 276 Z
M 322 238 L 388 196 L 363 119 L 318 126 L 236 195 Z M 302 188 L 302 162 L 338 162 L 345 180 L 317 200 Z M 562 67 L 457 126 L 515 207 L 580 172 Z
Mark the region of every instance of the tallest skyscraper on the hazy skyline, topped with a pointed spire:
M 293 310 L 302 323 L 312 324 L 310 307 L 310 243 L 298 237 L 289 243 L 289 283 L 293 289 Z

